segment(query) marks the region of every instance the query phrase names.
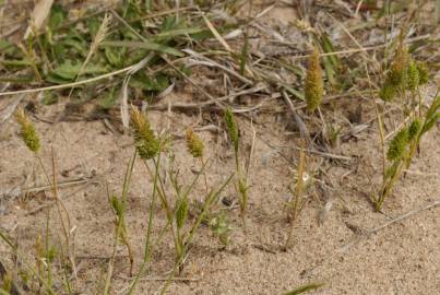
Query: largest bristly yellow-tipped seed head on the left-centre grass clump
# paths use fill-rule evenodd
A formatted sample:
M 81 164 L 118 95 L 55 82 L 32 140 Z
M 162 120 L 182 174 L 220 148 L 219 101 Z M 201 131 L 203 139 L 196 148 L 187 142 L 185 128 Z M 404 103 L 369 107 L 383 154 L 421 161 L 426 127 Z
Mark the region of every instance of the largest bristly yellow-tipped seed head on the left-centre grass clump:
M 131 120 L 139 155 L 144 160 L 153 158 L 160 150 L 160 142 L 154 134 L 146 115 L 133 108 L 131 110 Z

